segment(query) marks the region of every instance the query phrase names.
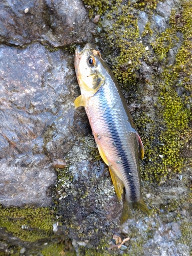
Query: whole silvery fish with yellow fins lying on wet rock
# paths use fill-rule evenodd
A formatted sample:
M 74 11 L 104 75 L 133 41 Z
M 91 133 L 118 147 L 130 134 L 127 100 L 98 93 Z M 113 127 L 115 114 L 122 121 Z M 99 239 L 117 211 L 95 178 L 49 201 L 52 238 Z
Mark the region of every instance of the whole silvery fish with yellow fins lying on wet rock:
M 123 203 L 124 223 L 133 209 L 148 212 L 141 194 L 139 169 L 144 146 L 120 86 L 100 52 L 89 43 L 82 50 L 77 46 L 74 66 L 81 91 L 74 105 L 86 110 L 99 154 L 109 166 L 116 195 Z

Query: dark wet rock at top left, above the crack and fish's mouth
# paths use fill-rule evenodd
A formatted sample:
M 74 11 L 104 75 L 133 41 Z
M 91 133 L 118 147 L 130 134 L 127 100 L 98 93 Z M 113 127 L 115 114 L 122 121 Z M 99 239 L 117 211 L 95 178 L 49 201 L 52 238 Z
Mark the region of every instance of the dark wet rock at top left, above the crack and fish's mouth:
M 80 0 L 0 3 L 0 42 L 23 46 L 34 41 L 61 47 L 88 41 L 94 24 Z

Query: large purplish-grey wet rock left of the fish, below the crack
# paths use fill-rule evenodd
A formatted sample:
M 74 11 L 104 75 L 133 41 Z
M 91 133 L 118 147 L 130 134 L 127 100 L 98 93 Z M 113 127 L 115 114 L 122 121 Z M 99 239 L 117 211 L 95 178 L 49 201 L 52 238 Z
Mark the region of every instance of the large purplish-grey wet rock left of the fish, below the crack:
M 76 133 L 86 131 L 81 118 L 74 122 L 78 93 L 73 96 L 74 70 L 66 61 L 73 58 L 38 43 L 23 50 L 1 46 L 0 58 L 0 203 L 48 206 L 47 190 L 57 177 L 53 161 L 65 156 Z

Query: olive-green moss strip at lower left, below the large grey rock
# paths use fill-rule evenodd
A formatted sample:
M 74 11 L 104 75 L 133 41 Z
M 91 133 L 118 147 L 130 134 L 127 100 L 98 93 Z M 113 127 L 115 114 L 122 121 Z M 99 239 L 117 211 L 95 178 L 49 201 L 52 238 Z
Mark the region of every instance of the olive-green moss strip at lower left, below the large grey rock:
M 0 226 L 23 241 L 49 237 L 54 217 L 49 208 L 4 208 L 0 206 Z

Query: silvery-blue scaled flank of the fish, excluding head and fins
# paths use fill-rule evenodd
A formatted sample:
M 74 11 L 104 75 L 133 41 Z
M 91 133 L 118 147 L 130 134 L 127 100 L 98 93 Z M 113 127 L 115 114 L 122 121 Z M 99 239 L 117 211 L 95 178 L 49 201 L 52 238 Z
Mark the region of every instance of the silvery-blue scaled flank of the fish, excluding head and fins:
M 103 130 L 103 132 L 108 131 L 110 140 L 108 144 L 105 144 L 105 150 L 109 151 L 108 148 L 110 148 L 109 158 L 113 158 L 113 162 L 116 162 L 117 158 L 121 158 L 121 164 L 118 164 L 116 169 L 118 168 L 120 172 L 123 172 L 122 176 L 125 178 L 123 179 L 125 189 L 127 192 L 129 191 L 127 197 L 130 201 L 137 201 L 141 198 L 141 191 L 140 186 L 138 186 L 139 169 L 135 156 L 135 146 L 137 147 L 135 131 L 132 128 L 134 131 L 131 132 L 134 137 L 133 144 L 133 141 L 130 140 L 130 136 L 129 140 L 126 139 L 130 125 L 127 124 L 128 117 L 126 116 L 125 118 L 118 91 L 112 80 L 108 79 L 107 81 L 108 82 L 93 96 L 93 99 L 90 100 L 90 105 L 86 108 L 86 112 L 90 120 L 92 131 L 96 131 L 98 126 L 100 126 L 100 130 Z M 108 95 L 110 95 L 110 97 L 108 97 Z M 113 101 L 116 102 L 117 108 L 120 111 L 116 111 L 111 107 L 113 106 Z M 94 106 L 97 107 L 94 108 Z M 93 108 L 95 110 L 94 114 Z M 92 113 L 91 115 L 89 114 L 90 112 Z M 104 136 L 100 130 L 98 132 L 101 139 L 98 140 L 97 137 L 95 138 L 97 144 L 102 144 L 102 137 Z M 114 142 L 116 146 L 113 145 Z M 132 148 L 133 153 L 131 151 Z M 114 156 L 112 154 L 114 154 Z

